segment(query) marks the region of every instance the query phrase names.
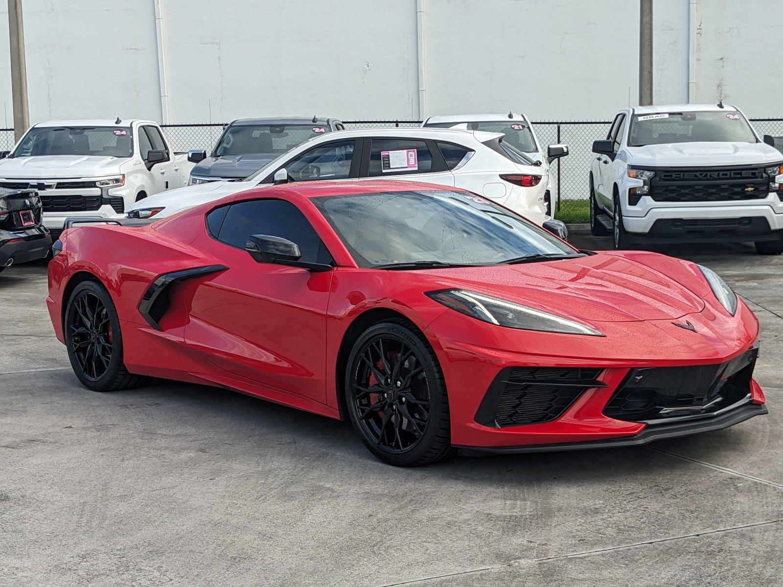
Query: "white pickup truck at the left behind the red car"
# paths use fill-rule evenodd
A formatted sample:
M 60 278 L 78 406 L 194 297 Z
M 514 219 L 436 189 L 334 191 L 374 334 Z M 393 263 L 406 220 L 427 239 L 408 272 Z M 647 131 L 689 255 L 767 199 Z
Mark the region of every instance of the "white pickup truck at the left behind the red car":
M 187 185 L 192 167 L 151 121 L 49 121 L 0 153 L 0 188 L 38 190 L 56 237 L 69 217 L 123 218 L 146 196 Z

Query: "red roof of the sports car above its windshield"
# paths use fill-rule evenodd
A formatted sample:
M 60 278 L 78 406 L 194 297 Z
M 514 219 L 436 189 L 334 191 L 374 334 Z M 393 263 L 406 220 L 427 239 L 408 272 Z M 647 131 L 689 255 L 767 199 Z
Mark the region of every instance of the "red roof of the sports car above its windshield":
M 435 185 L 425 182 L 408 182 L 399 179 L 358 179 L 351 181 L 324 180 L 318 182 L 289 182 L 277 185 L 265 185 L 256 189 L 249 189 L 240 193 L 234 201 L 254 200 L 259 195 L 285 198 L 290 195 L 303 196 L 305 198 L 320 198 L 327 196 L 351 196 L 363 193 L 383 192 L 417 192 L 449 189 L 464 192 L 464 189 L 449 185 Z

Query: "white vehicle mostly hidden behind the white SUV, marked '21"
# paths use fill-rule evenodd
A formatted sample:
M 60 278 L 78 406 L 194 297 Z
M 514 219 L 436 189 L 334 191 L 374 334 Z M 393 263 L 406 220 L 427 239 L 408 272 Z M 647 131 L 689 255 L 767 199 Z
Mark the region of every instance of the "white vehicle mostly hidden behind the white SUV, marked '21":
M 549 165 L 558 157 L 568 155 L 568 145 L 557 144 L 543 146 L 533 130 L 532 124 L 525 114 L 509 112 L 507 114 L 450 114 L 448 116 L 431 116 L 421 123 L 424 128 L 460 128 L 466 131 L 502 132 L 503 141 L 540 165 L 542 175 L 549 177 Z M 547 214 L 552 214 L 552 198 L 549 185 L 539 185 L 543 201 L 547 206 Z

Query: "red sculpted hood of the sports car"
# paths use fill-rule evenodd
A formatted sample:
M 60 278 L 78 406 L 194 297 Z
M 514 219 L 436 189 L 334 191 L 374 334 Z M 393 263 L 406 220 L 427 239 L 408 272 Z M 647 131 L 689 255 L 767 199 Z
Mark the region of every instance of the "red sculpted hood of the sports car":
M 478 291 L 588 324 L 673 320 L 705 306 L 701 297 L 666 275 L 612 255 L 419 273 L 427 273 L 442 289 Z

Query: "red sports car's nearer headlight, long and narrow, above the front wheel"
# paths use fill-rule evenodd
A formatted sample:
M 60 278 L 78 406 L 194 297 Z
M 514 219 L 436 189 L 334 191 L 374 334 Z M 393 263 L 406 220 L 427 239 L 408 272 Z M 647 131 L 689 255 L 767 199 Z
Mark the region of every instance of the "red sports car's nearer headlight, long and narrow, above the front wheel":
M 591 337 L 604 336 L 590 326 L 573 322 L 562 316 L 497 297 L 477 294 L 474 291 L 441 290 L 428 292 L 427 295 L 457 312 L 497 326 L 561 334 L 586 334 Z

